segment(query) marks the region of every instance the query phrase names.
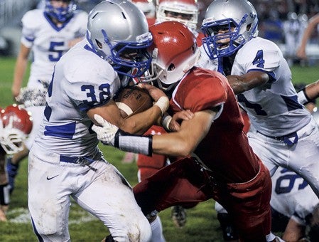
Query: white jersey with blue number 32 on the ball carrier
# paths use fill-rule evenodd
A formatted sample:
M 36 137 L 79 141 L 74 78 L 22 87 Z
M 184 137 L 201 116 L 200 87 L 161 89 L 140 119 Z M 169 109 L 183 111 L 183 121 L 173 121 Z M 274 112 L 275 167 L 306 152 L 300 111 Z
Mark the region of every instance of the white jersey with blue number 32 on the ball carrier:
M 35 142 L 58 154 L 92 157 L 99 140 L 87 110 L 107 103 L 120 87 L 112 65 L 92 51 L 86 38 L 80 41 L 55 65 Z

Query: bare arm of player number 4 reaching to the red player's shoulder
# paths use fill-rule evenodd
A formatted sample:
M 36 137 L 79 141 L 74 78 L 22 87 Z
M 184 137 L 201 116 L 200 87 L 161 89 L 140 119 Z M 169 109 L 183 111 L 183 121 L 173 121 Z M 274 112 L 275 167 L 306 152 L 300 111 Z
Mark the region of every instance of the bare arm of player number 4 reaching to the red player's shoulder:
M 227 75 L 226 78 L 235 95 L 264 85 L 269 81 L 269 75 L 262 71 L 250 71 L 244 75 Z

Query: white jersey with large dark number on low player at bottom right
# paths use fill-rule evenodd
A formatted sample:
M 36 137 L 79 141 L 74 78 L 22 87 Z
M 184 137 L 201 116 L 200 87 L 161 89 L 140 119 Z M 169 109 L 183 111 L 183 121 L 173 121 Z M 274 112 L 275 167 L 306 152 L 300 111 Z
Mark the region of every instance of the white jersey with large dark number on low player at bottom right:
M 271 180 L 271 207 L 306 226 L 306 216 L 311 214 L 319 203 L 308 183 L 295 172 L 285 168 L 277 169 Z

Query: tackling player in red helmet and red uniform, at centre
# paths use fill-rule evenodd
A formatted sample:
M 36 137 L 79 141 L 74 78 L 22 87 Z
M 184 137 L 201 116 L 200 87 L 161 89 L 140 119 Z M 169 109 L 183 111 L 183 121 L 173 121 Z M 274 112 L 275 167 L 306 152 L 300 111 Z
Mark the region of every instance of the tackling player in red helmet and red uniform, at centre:
M 92 130 L 104 144 L 122 150 L 185 157 L 134 187 L 144 214 L 215 199 L 229 211 L 242 241 L 276 241 L 271 233 L 269 171 L 249 146 L 227 79 L 194 67 L 199 49 L 195 36 L 182 23 L 158 23 L 150 31 L 154 75 L 149 80 L 171 97 L 171 115 L 190 110 L 194 117 L 183 120 L 177 132 L 136 137 L 95 115 L 99 126 Z M 153 88 L 146 83 L 141 86 Z

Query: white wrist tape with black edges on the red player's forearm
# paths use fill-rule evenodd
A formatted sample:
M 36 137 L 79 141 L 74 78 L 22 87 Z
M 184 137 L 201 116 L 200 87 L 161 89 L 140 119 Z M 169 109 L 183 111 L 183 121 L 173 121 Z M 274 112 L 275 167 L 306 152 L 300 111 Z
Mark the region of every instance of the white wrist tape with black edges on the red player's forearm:
M 114 138 L 114 147 L 126 152 L 134 152 L 151 156 L 152 137 L 130 135 L 122 130 L 119 130 Z

